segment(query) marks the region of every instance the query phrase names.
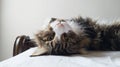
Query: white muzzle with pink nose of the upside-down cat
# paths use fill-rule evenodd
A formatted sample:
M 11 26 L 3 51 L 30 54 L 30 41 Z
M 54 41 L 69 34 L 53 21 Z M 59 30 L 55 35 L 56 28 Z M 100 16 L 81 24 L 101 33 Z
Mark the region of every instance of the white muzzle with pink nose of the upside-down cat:
M 68 33 L 68 31 L 72 31 L 72 27 L 66 20 L 52 18 L 49 22 L 49 27 L 55 32 L 55 37 L 60 39 L 63 33 Z

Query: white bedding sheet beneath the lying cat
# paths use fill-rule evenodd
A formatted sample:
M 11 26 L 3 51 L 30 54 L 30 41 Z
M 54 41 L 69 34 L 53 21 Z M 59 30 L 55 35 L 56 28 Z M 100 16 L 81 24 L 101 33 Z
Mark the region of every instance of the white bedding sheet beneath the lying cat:
M 0 62 L 0 67 L 120 67 L 120 51 L 91 52 L 76 56 L 29 57 L 36 48 L 31 48 L 15 57 Z

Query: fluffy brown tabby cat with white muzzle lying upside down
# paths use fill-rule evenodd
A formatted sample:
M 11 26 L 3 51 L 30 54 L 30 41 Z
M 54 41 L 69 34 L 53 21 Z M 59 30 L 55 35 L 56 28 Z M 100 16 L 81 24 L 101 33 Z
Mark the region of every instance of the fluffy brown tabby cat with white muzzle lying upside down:
M 31 56 L 74 55 L 88 51 L 119 51 L 120 23 L 100 25 L 91 18 L 51 18 L 35 35 L 38 45 Z

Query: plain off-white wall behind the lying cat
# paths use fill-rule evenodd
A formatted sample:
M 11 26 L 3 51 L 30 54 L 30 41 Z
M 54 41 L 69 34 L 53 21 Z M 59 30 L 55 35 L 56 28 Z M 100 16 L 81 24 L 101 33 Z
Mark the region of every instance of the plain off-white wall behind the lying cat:
M 45 18 L 120 17 L 120 0 L 2 0 L 1 11 L 0 60 L 4 60 L 12 56 L 16 36 L 33 36 Z

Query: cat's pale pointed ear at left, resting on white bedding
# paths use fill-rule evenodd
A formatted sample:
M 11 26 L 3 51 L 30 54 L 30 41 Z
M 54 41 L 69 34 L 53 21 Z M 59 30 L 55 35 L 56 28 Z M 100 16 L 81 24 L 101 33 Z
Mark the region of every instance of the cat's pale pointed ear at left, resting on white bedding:
M 37 49 L 33 52 L 30 57 L 41 56 L 41 55 L 48 55 L 48 49 L 44 47 L 37 47 Z

